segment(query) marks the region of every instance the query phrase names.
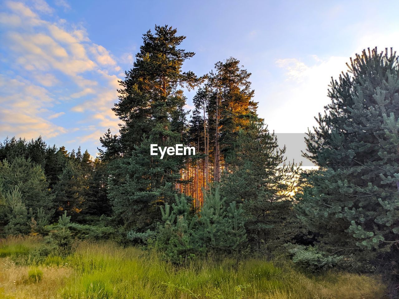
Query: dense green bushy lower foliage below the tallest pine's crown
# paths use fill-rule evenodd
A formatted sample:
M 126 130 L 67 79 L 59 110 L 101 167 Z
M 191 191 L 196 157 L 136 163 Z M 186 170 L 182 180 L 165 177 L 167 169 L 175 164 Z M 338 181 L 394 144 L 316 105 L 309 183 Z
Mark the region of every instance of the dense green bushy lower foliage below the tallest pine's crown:
M 166 136 L 172 134 L 163 132 Z M 173 201 L 173 184 L 180 177 L 173 157 L 149 155 L 150 144 L 154 143 L 152 138 L 143 141 L 131 157 L 112 161 L 109 167 L 113 179 L 109 181 L 108 194 L 113 211 L 126 229 L 137 232 L 155 228 L 160 220 L 159 207 Z M 172 146 L 172 142 L 165 146 Z

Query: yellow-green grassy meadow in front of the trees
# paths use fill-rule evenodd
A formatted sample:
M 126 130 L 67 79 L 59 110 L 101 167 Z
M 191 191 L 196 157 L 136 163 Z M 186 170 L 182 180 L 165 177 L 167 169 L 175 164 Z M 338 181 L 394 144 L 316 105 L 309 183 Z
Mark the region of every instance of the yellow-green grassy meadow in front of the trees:
M 111 243 L 80 242 L 66 258 L 47 257 L 39 266 L 39 283 L 25 282 L 28 265 L 18 266 L 10 256 L 0 263 L 0 298 L 377 299 L 385 293 L 383 285 L 365 276 L 308 276 L 289 263 L 254 259 L 238 266 L 232 259 L 198 260 L 177 268 L 156 253 Z

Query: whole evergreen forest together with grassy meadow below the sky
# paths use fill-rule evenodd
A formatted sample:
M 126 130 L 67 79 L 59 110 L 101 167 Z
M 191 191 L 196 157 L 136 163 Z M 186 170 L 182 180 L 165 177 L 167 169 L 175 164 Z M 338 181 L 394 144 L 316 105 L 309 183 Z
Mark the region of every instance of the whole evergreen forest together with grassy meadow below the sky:
M 258 115 L 251 73 L 234 57 L 183 71 L 185 38 L 143 34 L 97 157 L 0 143 L 0 297 L 397 298 L 396 52 L 331 74 L 303 169 Z

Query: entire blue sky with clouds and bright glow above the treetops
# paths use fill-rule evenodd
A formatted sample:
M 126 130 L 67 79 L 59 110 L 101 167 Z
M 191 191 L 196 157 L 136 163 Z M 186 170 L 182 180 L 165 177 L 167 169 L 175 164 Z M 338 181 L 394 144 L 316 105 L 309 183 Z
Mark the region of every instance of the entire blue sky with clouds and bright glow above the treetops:
M 0 139 L 41 135 L 95 157 L 104 132 L 118 133 L 118 80 L 155 24 L 187 37 L 196 55 L 184 71 L 239 59 L 269 129 L 303 134 L 349 57 L 399 50 L 398 11 L 398 1 L 0 0 Z

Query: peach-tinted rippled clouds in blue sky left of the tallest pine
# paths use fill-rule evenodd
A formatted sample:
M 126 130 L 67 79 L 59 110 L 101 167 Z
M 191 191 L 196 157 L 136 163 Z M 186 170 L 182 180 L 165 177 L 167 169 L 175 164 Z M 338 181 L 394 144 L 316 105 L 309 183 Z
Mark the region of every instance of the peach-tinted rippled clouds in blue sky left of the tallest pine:
M 31 138 L 68 133 L 71 124 L 61 125 L 58 118 L 65 114 L 59 110 L 69 106 L 68 113 L 79 114 L 76 123 L 93 126 L 78 139 L 98 142 L 101 132 L 118 128 L 111 107 L 117 100 L 120 67 L 105 47 L 89 39 L 85 28 L 59 19 L 44 0 L 29 3 L 8 1 L 0 12 L 1 38 L 12 51 L 7 57 L 10 69 L 0 77 L 0 134 Z M 64 0 L 55 4 L 71 9 Z

